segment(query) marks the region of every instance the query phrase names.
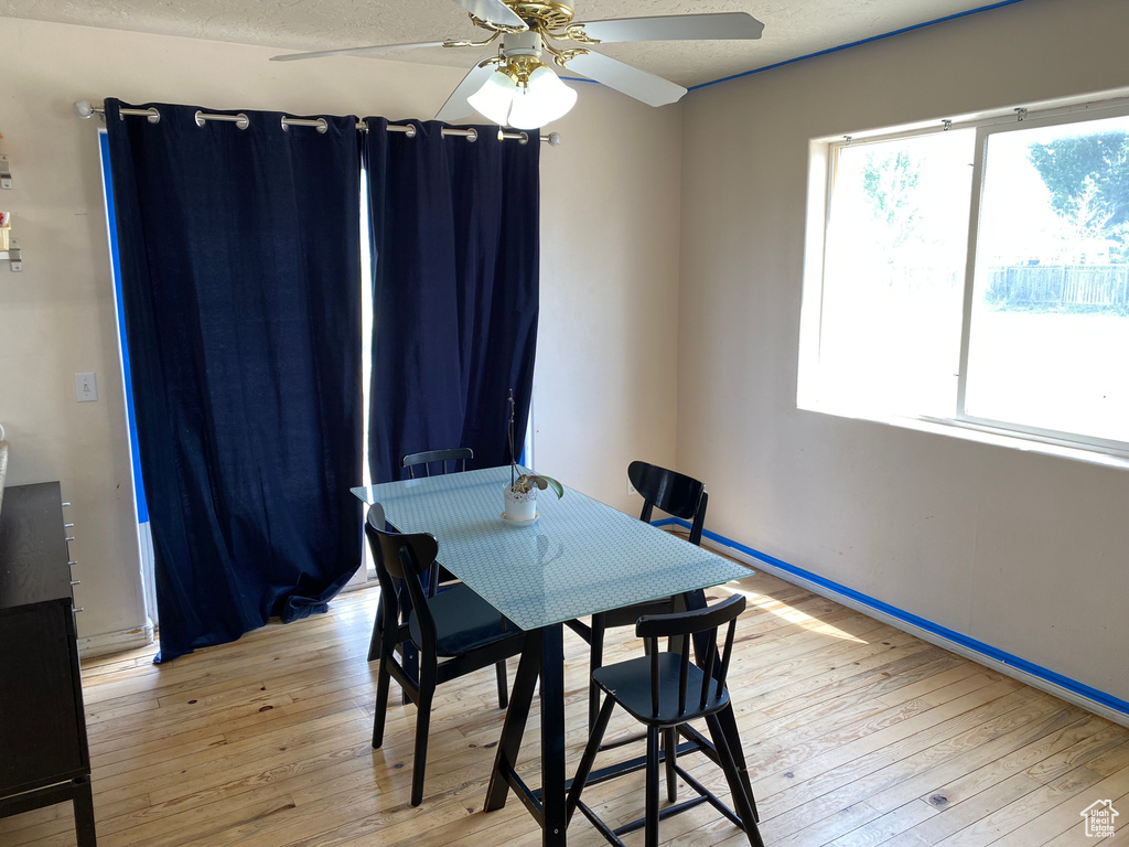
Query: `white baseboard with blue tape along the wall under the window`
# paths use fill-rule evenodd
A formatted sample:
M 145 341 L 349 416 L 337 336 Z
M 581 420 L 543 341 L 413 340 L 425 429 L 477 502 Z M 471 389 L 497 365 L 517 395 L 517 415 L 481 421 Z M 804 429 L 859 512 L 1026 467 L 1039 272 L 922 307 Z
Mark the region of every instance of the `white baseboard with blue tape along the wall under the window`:
M 732 548 L 728 544 L 723 544 L 720 542 L 714 541 L 712 539 L 702 538 L 702 545 L 724 552 L 729 558 L 744 562 L 745 565 L 749 565 L 755 570 L 763 570 L 765 574 L 771 574 L 774 577 L 784 579 L 786 583 L 791 583 L 793 585 L 799 585 L 804 588 L 807 588 L 813 594 L 819 594 L 820 596 L 826 597 L 828 600 L 833 600 L 837 603 L 840 603 L 841 605 L 844 605 L 849 609 L 854 609 L 857 612 L 861 612 L 863 614 L 866 614 L 869 618 L 874 618 L 875 620 L 881 620 L 883 623 L 889 623 L 891 627 L 900 629 L 903 632 L 909 632 L 910 635 L 920 638 L 922 641 L 928 641 L 929 644 L 943 647 L 949 653 L 955 653 L 959 656 L 964 656 L 964 658 L 971 660 L 972 662 L 983 665 L 984 667 L 996 671 L 997 673 L 1001 673 L 1005 676 L 1010 676 L 1012 679 L 1018 680 L 1019 682 L 1031 686 L 1032 688 L 1038 688 L 1040 691 L 1045 691 L 1047 693 L 1053 695 L 1054 697 L 1058 697 L 1061 700 L 1066 700 L 1067 702 L 1074 704 L 1075 706 L 1079 706 L 1086 709 L 1087 711 L 1093 711 L 1095 715 L 1100 715 L 1101 717 L 1104 717 L 1106 721 L 1112 721 L 1113 723 L 1120 724 L 1121 726 L 1129 726 L 1129 715 L 1126 715 L 1122 711 L 1118 711 L 1117 709 L 1111 709 L 1109 706 L 1097 702 L 1096 700 L 1092 700 L 1083 695 L 1079 695 L 1077 691 L 1071 691 L 1070 689 L 1062 688 L 1061 686 L 1057 686 L 1053 682 L 1044 680 L 1041 676 L 1036 676 L 1033 673 L 1027 673 L 1026 671 L 1019 667 L 1015 667 L 1005 662 L 1000 662 L 999 660 L 992 658 L 991 656 L 986 656 L 983 653 L 971 649 L 964 646 L 963 644 L 959 644 L 948 638 L 945 638 L 943 635 L 939 635 L 928 629 L 924 629 L 921 627 L 917 627 L 910 623 L 909 621 L 904 621 L 900 618 L 895 618 L 892 614 L 887 614 L 883 612 L 881 609 L 875 609 L 874 606 L 867 605 L 866 603 L 861 603 L 855 600 L 854 597 L 840 594 L 839 592 L 829 588 L 825 585 L 821 585 L 820 583 L 805 579 L 802 576 L 797 576 L 796 574 L 784 570 L 782 568 L 778 568 L 772 564 L 764 561 L 763 559 L 758 559 L 756 557 L 742 552 L 741 550 Z

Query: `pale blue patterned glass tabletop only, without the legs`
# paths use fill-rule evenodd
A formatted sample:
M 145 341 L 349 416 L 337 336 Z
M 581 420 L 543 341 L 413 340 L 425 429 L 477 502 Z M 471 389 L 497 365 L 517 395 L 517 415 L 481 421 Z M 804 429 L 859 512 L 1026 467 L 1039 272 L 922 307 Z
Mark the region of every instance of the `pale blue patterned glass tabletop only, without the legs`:
M 439 561 L 524 630 L 707 588 L 749 568 L 579 491 L 537 492 L 532 524 L 504 521 L 509 468 L 351 489 L 400 532 L 430 532 Z

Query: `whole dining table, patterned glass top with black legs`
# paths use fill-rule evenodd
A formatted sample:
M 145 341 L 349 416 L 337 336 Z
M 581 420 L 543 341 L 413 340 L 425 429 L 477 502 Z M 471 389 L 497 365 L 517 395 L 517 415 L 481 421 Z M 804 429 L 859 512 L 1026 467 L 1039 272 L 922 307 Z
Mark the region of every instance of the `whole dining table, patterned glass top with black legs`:
M 534 523 L 509 524 L 501 517 L 509 481 L 504 466 L 351 490 L 379 503 L 399 532 L 434 534 L 443 566 L 526 631 L 484 811 L 505 806 L 513 789 L 541 826 L 542 844 L 560 847 L 568 842 L 562 625 L 676 594 L 700 606 L 702 588 L 753 571 L 567 487 L 561 499 L 537 492 Z M 541 788 L 533 791 L 516 765 L 535 689 Z M 735 754 L 744 769 L 739 748 Z

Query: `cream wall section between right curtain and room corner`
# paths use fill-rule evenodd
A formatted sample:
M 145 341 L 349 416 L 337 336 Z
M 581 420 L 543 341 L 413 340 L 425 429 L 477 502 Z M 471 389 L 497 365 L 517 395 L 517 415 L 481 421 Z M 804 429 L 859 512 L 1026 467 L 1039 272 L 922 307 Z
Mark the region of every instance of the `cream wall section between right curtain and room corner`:
M 534 461 L 638 513 L 628 464 L 674 464 L 681 107 L 578 87 L 541 166 Z

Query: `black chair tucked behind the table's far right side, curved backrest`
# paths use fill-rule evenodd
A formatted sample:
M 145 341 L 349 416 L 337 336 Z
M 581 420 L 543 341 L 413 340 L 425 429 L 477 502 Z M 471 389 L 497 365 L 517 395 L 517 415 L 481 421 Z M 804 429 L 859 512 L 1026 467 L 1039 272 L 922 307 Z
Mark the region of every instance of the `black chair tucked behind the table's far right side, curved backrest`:
M 628 465 L 628 479 L 642 496 L 642 514 L 640 521 L 650 523 L 651 514 L 658 507 L 663 512 L 684 521 L 690 521 L 690 543 L 701 544 L 702 527 L 706 523 L 706 504 L 709 495 L 706 486 L 682 473 L 668 471 L 647 462 L 632 462 Z M 570 629 L 588 641 L 590 646 L 589 663 L 593 671 L 604 663 L 604 632 L 613 627 L 631 627 L 644 614 L 665 614 L 679 610 L 679 600 L 668 597 L 650 603 L 613 609 L 592 615 L 592 626 L 580 621 L 569 621 Z M 595 726 L 599 709 L 599 693 L 593 681 L 588 690 L 588 728 Z

